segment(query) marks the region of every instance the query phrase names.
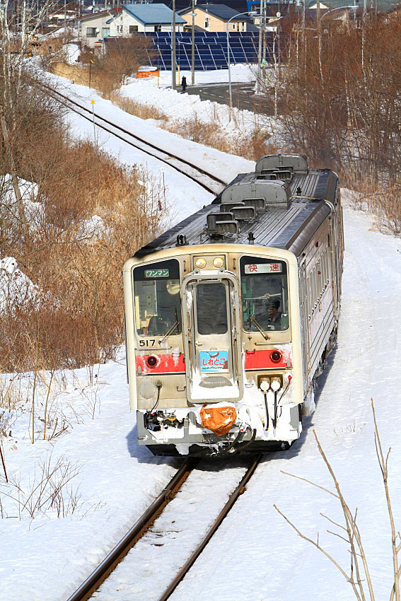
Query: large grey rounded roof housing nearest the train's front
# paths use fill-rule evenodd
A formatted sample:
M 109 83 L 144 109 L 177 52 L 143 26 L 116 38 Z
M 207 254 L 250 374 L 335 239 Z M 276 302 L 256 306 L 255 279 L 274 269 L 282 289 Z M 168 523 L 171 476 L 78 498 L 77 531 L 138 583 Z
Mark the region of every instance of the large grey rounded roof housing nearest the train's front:
M 241 201 L 248 206 L 250 200 L 255 201 L 255 205 L 261 204 L 260 199 L 265 202 L 265 209 L 273 206 L 285 206 L 288 209 L 290 197 L 291 192 L 288 183 L 281 180 L 257 180 L 253 178 L 250 181 L 240 180 L 240 182 L 223 190 L 220 210 L 223 211 L 223 206 L 228 205 L 230 206 L 229 210 L 232 211 L 235 203 Z

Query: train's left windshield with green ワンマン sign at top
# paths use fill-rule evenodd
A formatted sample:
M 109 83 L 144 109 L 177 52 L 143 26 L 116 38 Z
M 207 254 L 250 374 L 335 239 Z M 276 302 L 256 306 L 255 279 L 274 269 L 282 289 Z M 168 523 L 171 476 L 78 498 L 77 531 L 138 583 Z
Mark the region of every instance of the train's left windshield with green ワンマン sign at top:
M 182 332 L 180 264 L 175 259 L 134 269 L 136 332 L 165 336 Z

